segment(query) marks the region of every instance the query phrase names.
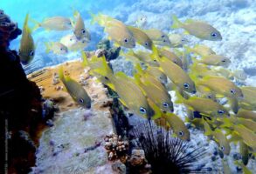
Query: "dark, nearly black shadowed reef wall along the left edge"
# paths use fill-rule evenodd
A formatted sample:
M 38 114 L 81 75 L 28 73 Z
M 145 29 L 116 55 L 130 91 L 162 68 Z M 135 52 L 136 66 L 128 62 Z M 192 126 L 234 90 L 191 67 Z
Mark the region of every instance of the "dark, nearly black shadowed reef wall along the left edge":
M 44 124 L 37 84 L 26 78 L 16 50 L 9 43 L 21 30 L 0 10 L 0 173 L 28 173 L 35 165 L 38 126 Z M 7 155 L 5 157 L 5 155 Z

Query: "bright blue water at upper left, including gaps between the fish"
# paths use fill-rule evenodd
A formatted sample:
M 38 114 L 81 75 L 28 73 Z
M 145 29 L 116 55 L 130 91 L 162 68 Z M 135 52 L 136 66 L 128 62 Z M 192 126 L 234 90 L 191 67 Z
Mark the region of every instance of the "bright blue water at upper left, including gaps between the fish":
M 81 16 L 85 20 L 86 29 L 90 30 L 92 36 L 92 42 L 88 44 L 86 50 L 95 50 L 96 44 L 104 36 L 102 29 L 97 26 L 91 26 L 89 11 L 93 13 L 103 12 L 109 13 L 114 10 L 118 5 L 126 6 L 133 1 L 121 2 L 119 0 L 104 1 L 97 0 L 97 3 L 93 0 L 45 0 L 45 1 L 33 1 L 33 0 L 1 0 L 0 9 L 4 10 L 5 14 L 8 14 L 11 20 L 18 23 L 18 27 L 22 29 L 24 23 L 24 17 L 27 13 L 30 17 L 38 22 L 44 20 L 45 17 L 73 17 L 73 10 L 79 10 Z M 30 23 L 31 28 L 34 23 Z M 96 28 L 93 28 L 96 27 Z M 100 32 L 100 33 L 99 33 Z M 59 64 L 69 59 L 77 58 L 77 54 L 73 52 L 67 56 L 57 56 L 54 54 L 45 53 L 45 42 L 58 42 L 61 37 L 71 34 L 72 30 L 68 31 L 45 31 L 43 29 L 36 30 L 32 33 L 34 41 L 36 43 L 36 54 L 34 60 L 40 60 L 40 67 L 42 64 L 52 65 Z M 10 48 L 18 50 L 20 38 L 10 43 Z

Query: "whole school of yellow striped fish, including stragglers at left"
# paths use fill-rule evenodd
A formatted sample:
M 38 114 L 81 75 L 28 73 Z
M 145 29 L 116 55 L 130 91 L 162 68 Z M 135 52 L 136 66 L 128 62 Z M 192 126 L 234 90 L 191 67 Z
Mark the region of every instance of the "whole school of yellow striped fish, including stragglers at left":
M 91 37 L 79 12 L 74 13 L 75 22 L 66 17 L 49 17 L 36 23 L 35 29 L 73 30 L 73 34 L 59 42 L 45 43 L 46 51 L 66 54 L 69 50 L 81 50 L 82 64 L 89 73 L 114 90 L 119 101 L 135 115 L 156 121 L 170 128 L 176 137 L 190 140 L 190 131 L 183 120 L 174 114 L 174 104 L 183 104 L 187 109 L 186 122 L 203 129 L 205 136 L 218 144 L 220 157 L 230 154 L 231 143 L 238 144 L 242 162 L 236 161 L 245 173 L 249 154 L 256 155 L 256 87 L 238 86 L 246 80 L 243 70 L 227 70 L 231 60 L 218 55 L 203 44 L 194 47 L 183 44 L 188 41 L 181 34 L 167 35 L 162 30 L 142 29 L 146 17 L 140 17 L 135 26 L 122 23 L 107 15 L 90 13 L 92 23 L 98 23 L 114 45 L 121 46 L 121 57 L 134 64 L 134 76 L 123 72 L 114 73 L 105 57 L 86 57 L 83 49 Z M 220 32 L 211 24 L 193 19 L 180 22 L 172 17 L 172 30 L 182 29 L 190 36 L 201 40 L 220 41 Z M 19 54 L 21 62 L 28 64 L 36 49 L 28 28 L 28 16 L 24 22 Z M 139 48 L 135 49 L 137 44 Z M 62 68 L 59 77 L 73 99 L 86 108 L 91 107 L 91 98 L 86 90 L 70 77 L 65 77 Z M 174 91 L 175 100 L 170 91 Z M 225 99 L 226 103 L 220 101 Z M 159 122 L 164 120 L 164 122 Z M 223 160 L 225 164 L 225 159 Z

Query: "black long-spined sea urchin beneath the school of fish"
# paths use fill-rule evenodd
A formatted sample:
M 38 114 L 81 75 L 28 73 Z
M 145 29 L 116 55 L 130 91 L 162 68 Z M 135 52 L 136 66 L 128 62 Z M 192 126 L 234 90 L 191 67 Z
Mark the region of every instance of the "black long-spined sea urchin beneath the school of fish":
M 145 151 L 154 174 L 205 173 L 211 168 L 199 167 L 197 160 L 205 155 L 203 147 L 192 148 L 189 142 L 171 137 L 170 131 L 151 123 L 135 126 L 135 145 Z

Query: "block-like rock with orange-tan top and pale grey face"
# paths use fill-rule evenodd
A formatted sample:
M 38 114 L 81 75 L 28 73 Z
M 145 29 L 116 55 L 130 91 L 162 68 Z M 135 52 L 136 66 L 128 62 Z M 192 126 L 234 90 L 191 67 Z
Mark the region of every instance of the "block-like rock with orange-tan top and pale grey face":
M 112 98 L 107 97 L 106 88 L 88 75 L 80 61 L 62 66 L 65 74 L 74 80 L 86 81 L 83 88 L 93 98 L 92 107 L 81 108 L 68 92 L 56 90 L 57 86 L 63 86 L 62 82 L 52 84 L 52 76 L 58 74 L 59 66 L 45 68 L 41 75 L 31 77 L 45 88 L 42 96 L 47 98 L 46 105 L 59 106 L 52 127 L 45 129 L 40 137 L 37 165 L 31 173 L 116 173 L 108 162 L 104 144 L 104 137 L 114 132 L 110 113 Z

